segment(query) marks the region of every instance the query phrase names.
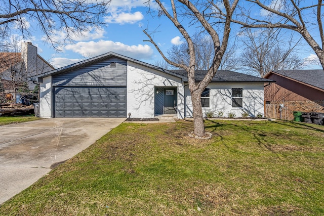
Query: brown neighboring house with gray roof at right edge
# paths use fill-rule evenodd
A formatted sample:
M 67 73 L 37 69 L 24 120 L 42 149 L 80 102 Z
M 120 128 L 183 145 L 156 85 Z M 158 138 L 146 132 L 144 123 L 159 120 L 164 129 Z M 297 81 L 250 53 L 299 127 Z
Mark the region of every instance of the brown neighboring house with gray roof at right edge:
M 266 116 L 293 120 L 294 111 L 324 112 L 323 70 L 275 70 L 265 78 L 275 83 L 265 86 Z

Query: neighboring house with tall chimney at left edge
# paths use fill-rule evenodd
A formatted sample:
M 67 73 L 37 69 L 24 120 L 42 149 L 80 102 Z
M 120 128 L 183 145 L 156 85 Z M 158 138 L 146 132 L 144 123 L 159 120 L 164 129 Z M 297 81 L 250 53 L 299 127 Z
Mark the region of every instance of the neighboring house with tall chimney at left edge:
M 27 82 L 29 76 L 55 69 L 37 54 L 37 47 L 31 42 L 22 42 L 21 53 L 0 53 L 0 77 L 5 92 L 15 93 L 14 88 Z M 28 82 L 28 89 L 33 90 L 35 84 Z

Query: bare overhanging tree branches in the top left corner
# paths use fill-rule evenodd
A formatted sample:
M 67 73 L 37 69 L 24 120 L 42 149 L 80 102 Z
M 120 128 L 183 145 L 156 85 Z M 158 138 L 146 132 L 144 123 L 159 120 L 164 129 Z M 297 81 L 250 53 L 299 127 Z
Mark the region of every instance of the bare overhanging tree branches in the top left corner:
M 65 31 L 65 39 L 76 33 L 102 25 L 111 0 L 10 0 L 0 4 L 0 38 L 18 33 L 28 38 L 33 28 L 45 33 L 45 38 L 58 48 L 53 33 Z

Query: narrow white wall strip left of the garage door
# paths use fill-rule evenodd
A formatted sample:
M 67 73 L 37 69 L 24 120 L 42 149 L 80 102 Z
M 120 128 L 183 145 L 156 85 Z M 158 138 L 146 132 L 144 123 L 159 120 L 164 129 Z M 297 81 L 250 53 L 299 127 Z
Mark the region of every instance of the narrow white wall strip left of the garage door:
M 43 78 L 39 83 L 39 117 L 52 117 L 52 76 Z

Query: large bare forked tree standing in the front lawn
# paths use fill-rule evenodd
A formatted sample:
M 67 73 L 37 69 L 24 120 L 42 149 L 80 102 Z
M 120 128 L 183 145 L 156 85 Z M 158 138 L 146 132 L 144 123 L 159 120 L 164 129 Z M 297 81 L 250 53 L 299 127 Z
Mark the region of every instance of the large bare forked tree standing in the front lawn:
M 224 22 L 219 22 L 219 25 L 222 25 L 222 32 L 217 32 L 214 27 L 211 25 L 210 19 L 205 17 L 205 10 L 209 10 L 208 7 L 213 5 L 213 10 L 221 10 L 218 6 L 220 1 L 212 1 L 212 2 L 205 2 L 201 3 L 201 1 L 189 1 L 189 0 L 178 0 L 174 1 L 171 0 L 171 13 L 166 8 L 166 4 L 161 2 L 160 0 L 155 0 L 159 7 L 159 14 L 165 15 L 173 25 L 178 29 L 178 31 L 182 34 L 183 38 L 188 44 L 188 55 L 189 55 L 189 62 L 185 63 L 177 63 L 169 59 L 159 48 L 156 42 L 153 40 L 152 35 L 148 32 L 147 29 L 143 30 L 144 33 L 149 38 L 149 41 L 154 45 L 160 55 L 171 65 L 183 68 L 188 73 L 188 86 L 191 94 L 191 101 L 193 107 L 193 121 L 194 121 L 194 135 L 198 137 L 206 136 L 205 127 L 204 127 L 204 119 L 203 119 L 203 112 L 201 109 L 201 93 L 205 90 L 207 85 L 212 80 L 213 76 L 216 74 L 221 61 L 222 57 L 226 51 L 227 43 L 229 39 L 230 33 L 230 24 L 234 9 L 237 6 L 238 0 L 223 0 L 222 4 L 224 6 L 223 14 L 226 15 Z M 231 2 L 231 3 L 230 3 Z M 194 46 L 194 42 L 192 40 L 191 35 L 186 30 L 185 21 L 182 15 L 189 16 L 190 19 L 193 20 L 193 25 L 200 26 L 204 31 L 206 31 L 213 40 L 213 60 L 211 61 L 212 64 L 209 66 L 207 70 L 206 76 L 203 80 L 196 82 L 195 81 L 195 70 L 196 67 L 196 50 Z M 189 28 L 189 26 L 187 26 Z M 222 33 L 222 39 L 219 37 L 219 33 Z

